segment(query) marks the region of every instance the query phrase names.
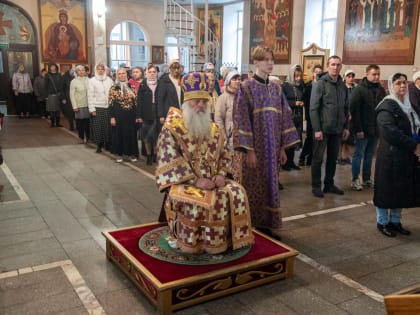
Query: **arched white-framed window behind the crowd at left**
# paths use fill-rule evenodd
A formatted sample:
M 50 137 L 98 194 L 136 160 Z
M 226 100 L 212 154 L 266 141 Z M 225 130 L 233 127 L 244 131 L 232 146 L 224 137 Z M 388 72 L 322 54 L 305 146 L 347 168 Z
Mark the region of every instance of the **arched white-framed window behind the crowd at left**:
M 111 68 L 145 68 L 149 60 L 149 46 L 141 27 L 124 21 L 116 25 L 110 35 Z

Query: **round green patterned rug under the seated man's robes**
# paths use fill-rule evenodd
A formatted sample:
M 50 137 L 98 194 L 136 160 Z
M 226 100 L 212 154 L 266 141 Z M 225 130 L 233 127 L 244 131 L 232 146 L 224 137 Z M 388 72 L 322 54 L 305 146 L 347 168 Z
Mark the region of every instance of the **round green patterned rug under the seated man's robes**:
M 139 240 L 139 248 L 153 258 L 180 265 L 214 265 L 229 262 L 245 256 L 250 246 L 237 250 L 229 249 L 222 254 L 186 254 L 168 245 L 167 226 L 158 227 L 145 233 Z

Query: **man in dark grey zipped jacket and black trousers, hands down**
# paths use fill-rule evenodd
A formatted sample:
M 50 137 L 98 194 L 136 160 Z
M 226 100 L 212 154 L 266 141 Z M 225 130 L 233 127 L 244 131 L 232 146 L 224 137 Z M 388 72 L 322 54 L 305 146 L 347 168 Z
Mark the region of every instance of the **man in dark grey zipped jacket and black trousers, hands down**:
M 322 198 L 324 193 L 343 195 L 344 192 L 334 185 L 338 148 L 341 138 L 349 136 L 348 98 L 346 86 L 340 76 L 341 58 L 328 58 L 327 72 L 318 76 L 311 93 L 310 117 L 314 130 L 312 157 L 312 193 Z M 324 190 L 321 190 L 321 166 L 327 150 Z

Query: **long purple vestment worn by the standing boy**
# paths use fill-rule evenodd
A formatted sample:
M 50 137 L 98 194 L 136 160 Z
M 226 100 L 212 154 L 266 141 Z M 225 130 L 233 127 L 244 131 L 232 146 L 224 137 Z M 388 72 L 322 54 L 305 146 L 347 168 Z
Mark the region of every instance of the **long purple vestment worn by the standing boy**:
M 279 229 L 280 148 L 300 141 L 280 85 L 244 81 L 235 96 L 233 121 L 235 152 L 254 150 L 257 157 L 255 169 L 246 167 L 245 158 L 234 159 L 233 165 L 234 173 L 241 176 L 236 180 L 248 194 L 252 225 Z

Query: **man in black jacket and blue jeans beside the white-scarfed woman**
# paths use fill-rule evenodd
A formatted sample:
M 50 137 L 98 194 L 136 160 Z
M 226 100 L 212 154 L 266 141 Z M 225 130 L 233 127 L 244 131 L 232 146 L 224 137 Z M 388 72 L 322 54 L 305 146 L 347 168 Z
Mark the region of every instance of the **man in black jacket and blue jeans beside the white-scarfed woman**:
M 373 187 L 371 179 L 372 159 L 377 143 L 375 108 L 386 96 L 380 84 L 381 70 L 378 65 L 366 67 L 366 77 L 356 86 L 350 98 L 350 131 L 355 135 L 355 150 L 351 161 L 353 190 Z M 362 179 L 359 181 L 360 164 L 363 159 Z

